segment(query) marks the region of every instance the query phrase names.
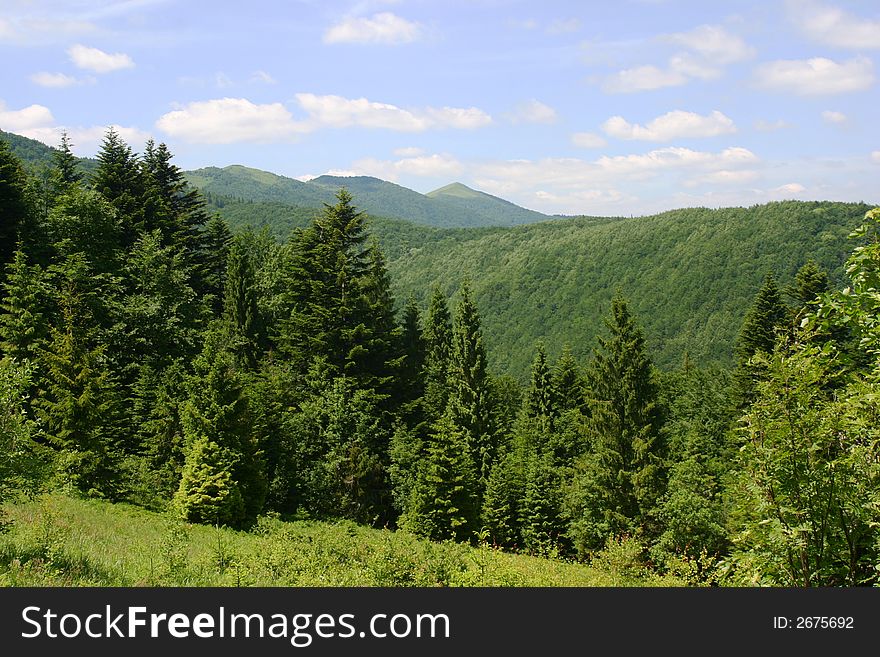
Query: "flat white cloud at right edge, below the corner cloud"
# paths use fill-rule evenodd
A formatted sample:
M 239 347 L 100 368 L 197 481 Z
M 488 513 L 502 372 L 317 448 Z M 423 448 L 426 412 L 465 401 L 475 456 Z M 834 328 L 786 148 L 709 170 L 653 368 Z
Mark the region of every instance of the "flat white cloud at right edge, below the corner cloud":
M 874 84 L 874 64 L 867 57 L 842 63 L 824 57 L 783 59 L 758 66 L 755 81 L 768 91 L 801 96 L 863 91 Z

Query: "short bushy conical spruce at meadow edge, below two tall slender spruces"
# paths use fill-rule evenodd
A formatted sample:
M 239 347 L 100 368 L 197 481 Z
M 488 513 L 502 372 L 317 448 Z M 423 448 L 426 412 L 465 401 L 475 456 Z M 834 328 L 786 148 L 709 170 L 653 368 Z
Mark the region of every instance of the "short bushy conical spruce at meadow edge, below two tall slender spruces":
M 470 453 L 467 436 L 444 416 L 428 442 L 405 529 L 435 541 L 473 539 L 479 502 Z

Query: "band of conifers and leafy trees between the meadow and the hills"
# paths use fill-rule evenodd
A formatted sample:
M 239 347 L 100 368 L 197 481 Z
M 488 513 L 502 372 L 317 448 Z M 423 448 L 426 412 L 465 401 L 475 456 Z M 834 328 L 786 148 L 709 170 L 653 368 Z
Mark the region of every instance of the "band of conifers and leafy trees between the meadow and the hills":
M 768 274 L 730 370 L 655 368 L 619 292 L 587 362 L 539 343 L 520 385 L 491 372 L 469 281 L 396 307 L 345 190 L 278 242 L 210 216 L 164 144 L 110 130 L 88 179 L 66 136 L 53 157 L 28 175 L 0 141 L 0 498 L 876 583 L 876 211 L 847 288 Z

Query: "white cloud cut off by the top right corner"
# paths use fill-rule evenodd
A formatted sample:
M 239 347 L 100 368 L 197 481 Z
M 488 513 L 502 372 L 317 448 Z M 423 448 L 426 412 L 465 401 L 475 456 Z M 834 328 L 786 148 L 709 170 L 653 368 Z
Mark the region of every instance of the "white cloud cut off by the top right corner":
M 880 20 L 855 16 L 838 7 L 817 2 L 788 2 L 789 15 L 801 31 L 816 43 L 837 48 L 880 48 Z

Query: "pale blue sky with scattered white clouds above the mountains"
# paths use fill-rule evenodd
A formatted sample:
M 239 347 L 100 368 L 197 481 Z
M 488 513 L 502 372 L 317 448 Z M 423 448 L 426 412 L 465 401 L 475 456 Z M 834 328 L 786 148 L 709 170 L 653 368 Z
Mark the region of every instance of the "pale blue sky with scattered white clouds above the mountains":
M 547 213 L 880 199 L 876 0 L 3 0 L 0 128 Z

